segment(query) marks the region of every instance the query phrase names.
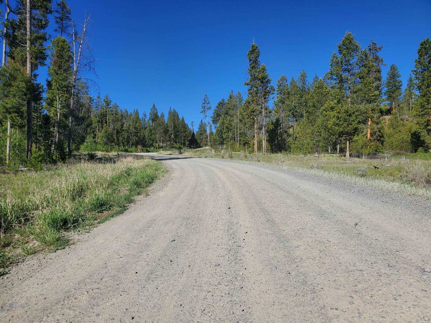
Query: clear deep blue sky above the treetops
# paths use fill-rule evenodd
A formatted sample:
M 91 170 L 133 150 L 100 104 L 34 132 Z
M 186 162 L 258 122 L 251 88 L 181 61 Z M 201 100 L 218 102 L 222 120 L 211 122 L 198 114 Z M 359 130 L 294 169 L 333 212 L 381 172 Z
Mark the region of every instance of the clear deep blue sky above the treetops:
M 56 0 L 53 0 L 55 2 Z M 91 44 L 101 95 L 122 109 L 147 115 L 153 102 L 169 106 L 195 129 L 200 103 L 212 107 L 230 90 L 246 92 L 247 51 L 259 45 L 273 84 L 280 75 L 309 80 L 329 66 L 348 30 L 362 47 L 382 44 L 388 64 L 400 69 L 403 87 L 419 43 L 431 37 L 431 1 L 114 1 L 70 0 L 81 22 L 91 12 Z M 50 28 L 52 29 L 52 28 Z M 50 32 L 53 36 L 55 33 Z M 46 79 L 41 68 L 40 79 Z

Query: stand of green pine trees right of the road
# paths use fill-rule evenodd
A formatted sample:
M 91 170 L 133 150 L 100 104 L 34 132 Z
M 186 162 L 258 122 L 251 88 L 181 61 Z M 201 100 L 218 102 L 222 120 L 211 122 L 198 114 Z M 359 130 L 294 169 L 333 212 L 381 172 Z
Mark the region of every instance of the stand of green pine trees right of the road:
M 403 87 L 400 71 L 390 65 L 386 78 L 374 41 L 362 48 L 346 32 L 329 60 L 329 70 L 309 81 L 281 75 L 274 87 L 260 51 L 247 53 L 247 98 L 228 94 L 211 115 L 215 133 L 209 145 L 228 151 L 345 153 L 366 156 L 386 152 L 427 151 L 431 147 L 431 40 L 419 44 L 412 74 Z M 274 98 L 270 108 L 268 102 Z M 202 103 L 204 119 L 211 105 Z

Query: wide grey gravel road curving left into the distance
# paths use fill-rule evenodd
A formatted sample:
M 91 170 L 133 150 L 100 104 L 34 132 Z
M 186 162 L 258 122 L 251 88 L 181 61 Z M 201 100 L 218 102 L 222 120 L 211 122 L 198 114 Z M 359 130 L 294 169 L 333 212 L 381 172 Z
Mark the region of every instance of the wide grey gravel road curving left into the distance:
M 431 203 L 257 164 L 156 156 L 124 214 L 0 279 L 0 322 L 425 322 Z

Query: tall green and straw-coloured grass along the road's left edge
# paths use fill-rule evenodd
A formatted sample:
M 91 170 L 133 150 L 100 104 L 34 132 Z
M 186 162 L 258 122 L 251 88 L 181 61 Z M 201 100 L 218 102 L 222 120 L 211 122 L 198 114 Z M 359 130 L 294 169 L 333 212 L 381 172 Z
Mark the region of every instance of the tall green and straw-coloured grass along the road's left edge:
M 19 257 L 64 248 L 67 232 L 122 213 L 164 171 L 160 162 L 124 156 L 0 175 L 0 275 Z

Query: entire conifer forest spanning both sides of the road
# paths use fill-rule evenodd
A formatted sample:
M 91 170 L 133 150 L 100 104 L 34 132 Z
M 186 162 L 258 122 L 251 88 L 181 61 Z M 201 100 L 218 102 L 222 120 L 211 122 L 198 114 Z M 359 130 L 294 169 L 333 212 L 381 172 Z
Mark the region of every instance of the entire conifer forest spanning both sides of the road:
M 431 147 L 431 40 L 419 44 L 403 87 L 382 46 L 362 48 L 347 32 L 332 53 L 328 72 L 311 81 L 281 75 L 275 86 L 260 50 L 247 53 L 247 93 L 231 91 L 194 129 L 175 109 L 140 115 L 100 93 L 87 37 L 90 17 L 77 24 L 65 0 L 5 0 L 0 68 L 0 164 L 8 168 L 65 160 L 73 152 L 150 151 L 210 146 L 248 152 L 316 152 L 366 156 Z M 47 34 L 53 18 L 56 35 Z M 37 69 L 47 66 L 46 84 Z M 198 112 L 198 109 L 197 109 Z M 214 130 L 212 130 L 214 126 Z

